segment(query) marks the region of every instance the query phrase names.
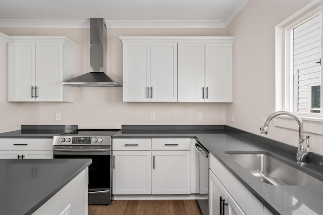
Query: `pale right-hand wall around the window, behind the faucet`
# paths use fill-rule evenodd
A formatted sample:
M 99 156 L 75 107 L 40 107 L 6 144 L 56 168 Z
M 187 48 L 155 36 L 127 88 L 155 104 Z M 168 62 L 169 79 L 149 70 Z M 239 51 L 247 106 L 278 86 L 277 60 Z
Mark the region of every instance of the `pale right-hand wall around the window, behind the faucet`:
M 260 118 L 275 112 L 275 26 L 310 2 L 249 0 L 228 25 L 227 35 L 235 36 L 235 101 L 227 104 L 227 125 L 259 134 Z M 231 114 L 235 115 L 234 123 Z M 306 127 L 304 130 L 306 133 Z M 323 154 L 323 136 L 310 135 L 311 150 Z M 273 123 L 268 137 L 298 145 L 297 130 L 275 127 Z

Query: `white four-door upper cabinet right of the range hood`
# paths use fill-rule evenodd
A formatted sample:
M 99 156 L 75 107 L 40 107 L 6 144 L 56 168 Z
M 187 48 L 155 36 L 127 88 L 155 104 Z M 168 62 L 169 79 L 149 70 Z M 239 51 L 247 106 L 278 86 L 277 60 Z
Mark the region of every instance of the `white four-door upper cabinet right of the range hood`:
M 233 102 L 234 37 L 119 38 L 123 101 Z

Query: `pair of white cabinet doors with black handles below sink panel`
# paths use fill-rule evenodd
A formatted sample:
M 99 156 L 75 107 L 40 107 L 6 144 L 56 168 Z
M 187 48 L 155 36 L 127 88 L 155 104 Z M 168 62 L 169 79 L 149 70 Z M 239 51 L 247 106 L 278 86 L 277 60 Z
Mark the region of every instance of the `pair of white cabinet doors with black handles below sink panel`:
M 210 214 L 245 214 L 212 171 L 209 171 L 209 185 Z

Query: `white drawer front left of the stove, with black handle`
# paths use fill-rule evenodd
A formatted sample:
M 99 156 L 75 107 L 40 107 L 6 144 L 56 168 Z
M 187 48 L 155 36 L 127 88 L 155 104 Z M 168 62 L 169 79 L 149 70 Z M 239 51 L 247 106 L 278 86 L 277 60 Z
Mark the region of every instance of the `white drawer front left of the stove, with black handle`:
M 52 138 L 0 138 L 0 150 L 52 150 Z

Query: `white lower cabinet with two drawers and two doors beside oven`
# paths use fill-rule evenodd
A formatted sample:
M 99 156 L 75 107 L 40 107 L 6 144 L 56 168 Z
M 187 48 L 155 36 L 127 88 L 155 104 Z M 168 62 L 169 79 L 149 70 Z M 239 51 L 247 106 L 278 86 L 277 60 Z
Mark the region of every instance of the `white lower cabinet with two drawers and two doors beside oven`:
M 113 139 L 114 195 L 191 194 L 191 139 Z

